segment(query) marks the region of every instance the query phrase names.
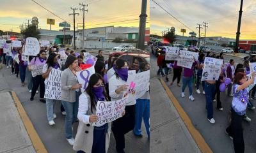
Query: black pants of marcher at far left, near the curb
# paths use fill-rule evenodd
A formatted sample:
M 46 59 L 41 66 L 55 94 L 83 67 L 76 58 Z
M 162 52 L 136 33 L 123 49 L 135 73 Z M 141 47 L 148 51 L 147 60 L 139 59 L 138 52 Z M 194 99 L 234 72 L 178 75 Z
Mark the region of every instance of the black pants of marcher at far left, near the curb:
M 34 98 L 34 96 L 36 94 L 36 90 L 40 86 L 40 99 L 44 99 L 44 91 L 45 91 L 44 80 L 45 79 L 42 77 L 42 75 L 32 77 L 33 87 L 32 87 L 32 92 L 31 92 L 31 98 Z

